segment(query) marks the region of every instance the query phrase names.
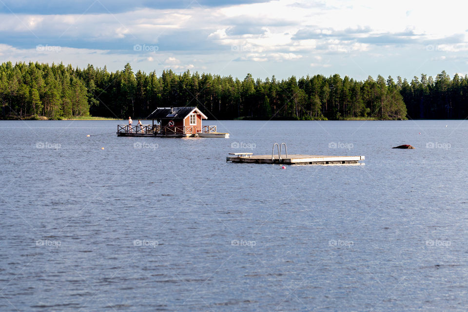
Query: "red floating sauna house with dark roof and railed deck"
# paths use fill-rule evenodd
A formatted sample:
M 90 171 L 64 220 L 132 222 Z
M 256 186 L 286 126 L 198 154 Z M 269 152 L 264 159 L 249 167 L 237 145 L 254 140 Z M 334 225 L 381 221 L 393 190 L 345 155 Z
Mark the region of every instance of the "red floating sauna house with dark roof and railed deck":
M 208 119 L 196 107 L 158 107 L 146 119 L 151 125 L 117 125 L 119 137 L 195 137 L 216 134 L 216 126 L 203 126 L 202 119 Z M 155 120 L 159 124 L 155 124 Z M 227 134 L 229 136 L 229 134 Z

